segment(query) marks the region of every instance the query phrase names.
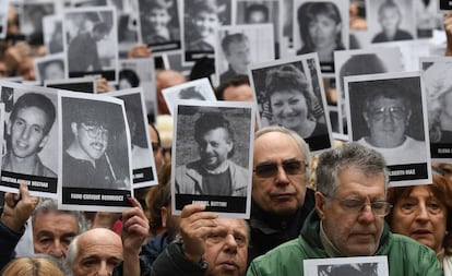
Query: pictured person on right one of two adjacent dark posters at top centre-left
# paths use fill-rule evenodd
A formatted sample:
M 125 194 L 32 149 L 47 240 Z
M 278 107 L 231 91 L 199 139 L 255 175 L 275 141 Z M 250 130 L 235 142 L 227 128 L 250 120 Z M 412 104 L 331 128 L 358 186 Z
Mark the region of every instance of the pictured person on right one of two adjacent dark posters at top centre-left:
M 188 51 L 213 51 L 216 44 L 216 31 L 222 25 L 219 13 L 226 9 L 218 0 L 194 0 L 190 7 L 192 11 L 191 27 L 188 32 Z

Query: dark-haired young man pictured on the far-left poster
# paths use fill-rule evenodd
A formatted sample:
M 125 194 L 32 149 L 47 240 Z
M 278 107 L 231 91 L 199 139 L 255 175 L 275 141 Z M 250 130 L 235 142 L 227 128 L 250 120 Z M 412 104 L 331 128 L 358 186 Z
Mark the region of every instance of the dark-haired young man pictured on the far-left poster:
M 4 171 L 56 178 L 38 153 L 49 140 L 56 109 L 51 100 L 37 93 L 26 93 L 15 101 L 7 124 L 7 148 L 1 169 Z

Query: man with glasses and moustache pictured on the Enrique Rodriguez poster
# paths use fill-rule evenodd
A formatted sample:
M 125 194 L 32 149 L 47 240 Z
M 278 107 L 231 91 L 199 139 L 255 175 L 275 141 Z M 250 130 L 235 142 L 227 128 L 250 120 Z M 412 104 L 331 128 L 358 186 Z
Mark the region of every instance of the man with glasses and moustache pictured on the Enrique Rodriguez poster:
M 106 110 L 94 104 L 80 106 L 71 118 L 73 139 L 63 154 L 64 187 L 129 189 L 117 180 L 112 164 L 106 153 L 111 122 Z

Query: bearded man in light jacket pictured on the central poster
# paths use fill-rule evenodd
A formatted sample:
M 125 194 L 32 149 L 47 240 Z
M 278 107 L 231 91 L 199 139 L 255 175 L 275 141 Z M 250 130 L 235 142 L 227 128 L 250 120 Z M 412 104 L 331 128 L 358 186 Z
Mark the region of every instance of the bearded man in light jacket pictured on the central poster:
M 176 193 L 246 196 L 248 171 L 230 158 L 234 130 L 221 113 L 204 113 L 194 123 L 200 159 L 176 168 Z

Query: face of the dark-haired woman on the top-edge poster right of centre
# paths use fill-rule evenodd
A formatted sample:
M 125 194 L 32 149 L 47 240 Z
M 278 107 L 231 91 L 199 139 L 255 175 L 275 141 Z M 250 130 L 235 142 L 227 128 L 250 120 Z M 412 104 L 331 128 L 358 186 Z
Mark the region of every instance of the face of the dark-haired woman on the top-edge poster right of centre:
M 341 24 L 336 24 L 325 14 L 318 14 L 313 21 L 309 22 L 308 31 L 316 48 L 328 48 L 335 45 Z

